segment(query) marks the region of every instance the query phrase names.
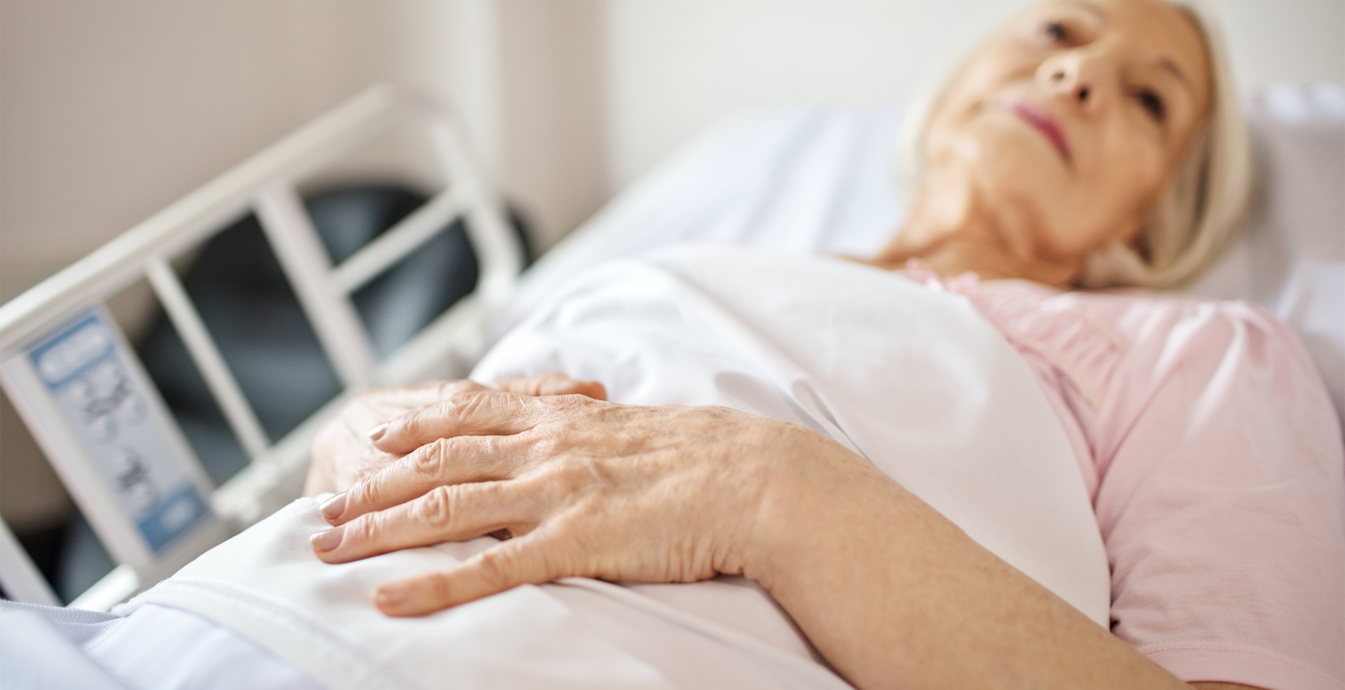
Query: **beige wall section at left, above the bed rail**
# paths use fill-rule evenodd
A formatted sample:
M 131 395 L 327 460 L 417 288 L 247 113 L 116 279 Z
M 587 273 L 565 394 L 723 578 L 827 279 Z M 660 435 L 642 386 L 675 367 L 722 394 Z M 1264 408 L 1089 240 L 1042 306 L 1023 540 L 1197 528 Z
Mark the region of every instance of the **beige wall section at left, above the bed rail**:
M 0 299 L 391 81 L 547 246 L 607 191 L 600 0 L 0 0 Z

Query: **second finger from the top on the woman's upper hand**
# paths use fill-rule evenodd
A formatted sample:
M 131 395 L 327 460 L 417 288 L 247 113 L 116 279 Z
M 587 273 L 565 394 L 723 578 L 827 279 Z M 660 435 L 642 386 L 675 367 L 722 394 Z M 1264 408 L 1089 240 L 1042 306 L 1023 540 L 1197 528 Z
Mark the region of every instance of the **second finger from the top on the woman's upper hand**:
M 510 479 L 527 460 L 527 443 L 516 436 L 436 439 L 359 478 L 346 493 L 323 503 L 321 513 L 332 525 L 340 525 L 437 486 Z

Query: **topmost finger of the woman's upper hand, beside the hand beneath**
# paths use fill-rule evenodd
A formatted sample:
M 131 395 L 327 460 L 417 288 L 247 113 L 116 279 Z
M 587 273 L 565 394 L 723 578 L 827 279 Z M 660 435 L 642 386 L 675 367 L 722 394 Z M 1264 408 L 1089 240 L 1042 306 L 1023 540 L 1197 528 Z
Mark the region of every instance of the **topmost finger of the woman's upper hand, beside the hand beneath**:
M 519 434 L 545 412 L 537 401 L 496 391 L 467 392 L 379 424 L 369 436 L 378 450 L 405 455 L 434 439 Z

